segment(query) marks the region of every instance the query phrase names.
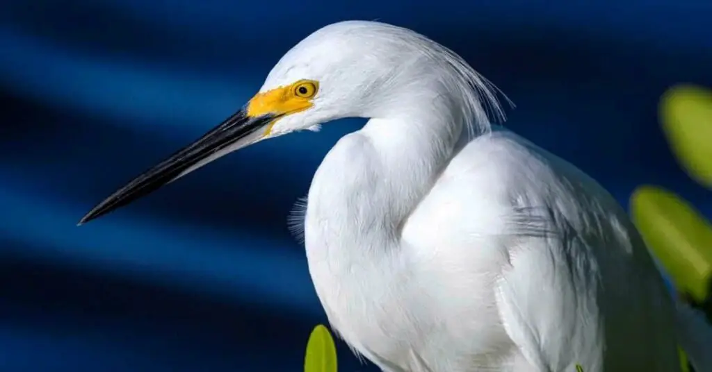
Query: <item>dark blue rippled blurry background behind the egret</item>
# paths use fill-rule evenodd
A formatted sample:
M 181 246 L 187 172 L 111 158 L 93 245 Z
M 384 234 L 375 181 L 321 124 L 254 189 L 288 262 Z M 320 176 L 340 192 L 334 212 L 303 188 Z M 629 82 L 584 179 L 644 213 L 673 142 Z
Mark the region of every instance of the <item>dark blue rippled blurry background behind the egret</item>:
M 325 317 L 286 216 L 361 121 L 75 223 L 234 112 L 308 33 L 376 18 L 463 55 L 517 105 L 509 127 L 622 203 L 654 183 L 711 211 L 656 121 L 669 85 L 712 85 L 709 1 L 2 1 L 0 370 L 300 371 Z M 341 344 L 340 364 L 370 370 Z

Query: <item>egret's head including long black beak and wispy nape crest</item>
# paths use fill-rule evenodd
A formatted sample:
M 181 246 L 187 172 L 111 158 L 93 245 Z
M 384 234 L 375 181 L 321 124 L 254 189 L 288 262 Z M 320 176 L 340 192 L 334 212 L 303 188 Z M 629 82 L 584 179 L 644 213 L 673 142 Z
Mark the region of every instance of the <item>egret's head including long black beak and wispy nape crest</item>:
M 333 23 L 290 49 L 234 115 L 117 190 L 79 224 L 263 139 L 342 117 L 378 117 L 404 97 L 448 97 L 444 88 L 458 90 L 450 96 L 464 100 L 456 102 L 464 117 L 482 119 L 478 92 L 493 100 L 486 81 L 463 60 L 418 33 L 378 22 Z

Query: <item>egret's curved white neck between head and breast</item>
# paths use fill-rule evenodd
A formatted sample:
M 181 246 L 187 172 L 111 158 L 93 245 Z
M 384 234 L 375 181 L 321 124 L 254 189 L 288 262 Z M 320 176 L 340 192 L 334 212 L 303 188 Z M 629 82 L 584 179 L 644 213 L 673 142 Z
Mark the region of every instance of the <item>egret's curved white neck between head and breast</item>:
M 351 250 L 351 257 L 358 251 L 373 260 L 400 246 L 400 229 L 463 132 L 456 119 L 434 115 L 442 111 L 433 105 L 370 119 L 329 152 L 309 193 L 306 243 L 324 250 L 312 254 Z

